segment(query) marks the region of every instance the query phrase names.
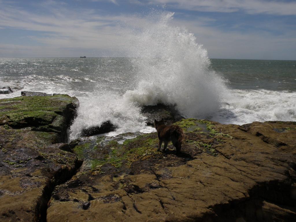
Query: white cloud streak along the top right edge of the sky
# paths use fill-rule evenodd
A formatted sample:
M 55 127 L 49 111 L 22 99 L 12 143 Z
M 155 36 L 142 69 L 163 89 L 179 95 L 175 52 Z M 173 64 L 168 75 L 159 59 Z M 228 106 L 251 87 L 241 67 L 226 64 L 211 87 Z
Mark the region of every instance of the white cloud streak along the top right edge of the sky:
M 134 0 L 131 0 L 134 2 Z M 142 0 L 141 3 L 167 4 L 177 9 L 204 12 L 237 12 L 248 14 L 296 15 L 296 2 L 266 0 Z

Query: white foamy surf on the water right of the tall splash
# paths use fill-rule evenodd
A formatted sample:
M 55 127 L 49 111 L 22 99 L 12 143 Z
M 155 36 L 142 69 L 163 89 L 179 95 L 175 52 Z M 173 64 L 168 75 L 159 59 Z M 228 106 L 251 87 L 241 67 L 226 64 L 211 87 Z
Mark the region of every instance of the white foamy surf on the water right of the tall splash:
M 212 120 L 239 125 L 253 121 L 296 121 L 296 92 L 236 89 L 231 90 L 227 103 Z

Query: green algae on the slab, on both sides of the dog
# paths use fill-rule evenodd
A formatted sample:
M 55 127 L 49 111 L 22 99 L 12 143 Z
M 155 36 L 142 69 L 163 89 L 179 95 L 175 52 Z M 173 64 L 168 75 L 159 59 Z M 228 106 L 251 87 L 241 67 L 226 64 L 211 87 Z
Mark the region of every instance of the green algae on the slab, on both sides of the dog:
M 210 131 L 206 129 L 206 125 L 197 119 L 182 119 L 174 124 L 179 125 L 188 133 L 189 140 L 184 141 L 182 150 L 189 153 L 207 152 L 216 155 L 213 145 L 217 145 L 221 140 L 213 138 Z M 208 122 L 209 124 L 212 122 Z M 198 128 L 198 130 L 188 130 Z M 203 132 L 204 135 L 200 134 Z M 217 134 L 217 133 L 216 133 Z M 215 135 L 215 134 L 213 134 Z M 84 160 L 86 166 L 93 171 L 103 172 L 101 168 L 104 165 L 110 165 L 118 169 L 117 171 L 128 171 L 134 162 L 144 161 L 149 158 L 162 158 L 162 152 L 157 151 L 158 138 L 157 133 L 148 133 L 135 136 L 135 138 L 122 140 L 124 136 L 118 135 L 114 139 L 106 136 L 98 139 L 81 140 L 78 145 L 73 148 L 73 152 L 78 158 Z M 120 139 L 121 138 L 121 139 Z M 203 138 L 207 143 L 200 142 Z M 119 143 L 120 142 L 120 143 Z M 172 143 L 168 144 L 168 152 L 174 153 L 175 148 Z M 193 158 L 187 156 L 187 158 Z M 104 173 L 104 172 L 103 172 Z

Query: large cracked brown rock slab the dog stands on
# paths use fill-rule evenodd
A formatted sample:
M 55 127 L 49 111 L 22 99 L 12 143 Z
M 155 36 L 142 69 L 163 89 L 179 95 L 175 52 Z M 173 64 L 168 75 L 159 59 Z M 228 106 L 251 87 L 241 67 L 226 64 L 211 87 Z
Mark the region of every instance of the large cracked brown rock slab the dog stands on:
M 296 123 L 184 119 L 182 153 L 157 133 L 81 138 L 47 221 L 295 221 Z

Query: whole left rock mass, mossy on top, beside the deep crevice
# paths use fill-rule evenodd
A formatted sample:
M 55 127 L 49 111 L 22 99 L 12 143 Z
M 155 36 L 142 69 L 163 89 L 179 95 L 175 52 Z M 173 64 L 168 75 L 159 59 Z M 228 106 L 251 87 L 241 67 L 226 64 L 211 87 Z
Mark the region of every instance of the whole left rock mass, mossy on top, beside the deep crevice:
M 77 107 L 67 95 L 0 100 L 0 221 L 46 221 L 54 186 L 81 164 L 64 151 Z

